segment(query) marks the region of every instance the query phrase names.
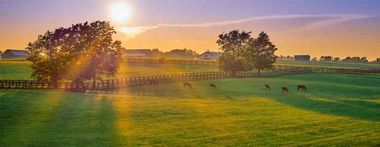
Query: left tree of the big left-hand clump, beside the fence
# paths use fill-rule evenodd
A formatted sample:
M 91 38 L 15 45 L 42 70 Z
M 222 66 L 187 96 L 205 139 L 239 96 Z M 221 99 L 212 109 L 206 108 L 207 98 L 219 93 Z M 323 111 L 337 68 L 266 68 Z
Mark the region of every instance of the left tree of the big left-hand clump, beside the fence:
M 59 28 L 54 32 L 47 31 L 34 42 L 29 42 L 26 50 L 29 52 L 27 60 L 31 62 L 32 79 L 52 83 L 63 79 L 71 66 L 72 54 L 63 45 L 70 33 L 70 29 Z

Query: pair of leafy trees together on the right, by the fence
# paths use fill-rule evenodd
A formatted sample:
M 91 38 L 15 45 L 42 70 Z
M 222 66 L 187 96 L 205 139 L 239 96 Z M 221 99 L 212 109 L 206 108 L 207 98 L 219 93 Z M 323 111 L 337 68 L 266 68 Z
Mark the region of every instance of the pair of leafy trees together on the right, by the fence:
M 250 71 L 255 67 L 260 71 L 272 66 L 278 58 L 274 54 L 276 46 L 264 32 L 257 38 L 251 37 L 250 34 L 251 32 L 233 30 L 219 35 L 217 43 L 219 49 L 223 50 L 218 60 L 219 69 L 235 72 Z

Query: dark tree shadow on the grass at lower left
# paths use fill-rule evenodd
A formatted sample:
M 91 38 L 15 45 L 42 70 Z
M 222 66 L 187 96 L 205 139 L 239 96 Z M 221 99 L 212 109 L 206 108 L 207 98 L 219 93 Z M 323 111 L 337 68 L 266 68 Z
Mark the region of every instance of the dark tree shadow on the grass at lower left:
M 12 90 L 9 93 L 20 96 L 28 93 L 28 91 Z M 7 125 L 17 128 L 18 134 L 11 132 L 12 129 L 1 129 L 2 131 L 10 131 L 10 133 L 4 134 L 7 138 L 11 138 L 12 135 L 16 135 L 14 137 L 26 137 L 5 140 L 3 145 L 117 146 L 120 143 L 120 137 L 114 126 L 117 118 L 112 107 L 112 100 L 98 97 L 96 93 L 66 93 L 60 90 L 39 90 L 30 93 L 33 95 L 20 98 L 23 103 L 14 102 L 20 105 L 9 110 L 27 109 L 23 113 L 9 116 L 11 118 L 9 118 L 10 121 L 7 122 Z M 5 99 L 17 98 L 14 96 L 9 95 Z M 44 99 L 48 101 L 44 101 Z M 47 103 L 41 104 L 45 102 Z M 24 123 L 12 124 L 11 121 L 18 120 L 16 119 L 18 117 L 26 120 L 22 121 Z M 25 127 L 29 129 L 23 130 L 22 128 Z

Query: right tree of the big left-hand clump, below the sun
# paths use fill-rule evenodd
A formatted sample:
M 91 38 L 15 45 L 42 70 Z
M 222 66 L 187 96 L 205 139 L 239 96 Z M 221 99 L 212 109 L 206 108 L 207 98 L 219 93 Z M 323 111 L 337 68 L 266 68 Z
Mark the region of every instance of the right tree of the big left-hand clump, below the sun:
M 82 69 L 81 80 L 93 80 L 95 88 L 96 80 L 102 80 L 103 76 L 114 76 L 119 69 L 122 60 L 121 42 L 112 40 L 116 32 L 109 22 L 95 21 L 79 26 L 86 36 L 81 42 L 84 48 L 77 60 L 77 68 Z

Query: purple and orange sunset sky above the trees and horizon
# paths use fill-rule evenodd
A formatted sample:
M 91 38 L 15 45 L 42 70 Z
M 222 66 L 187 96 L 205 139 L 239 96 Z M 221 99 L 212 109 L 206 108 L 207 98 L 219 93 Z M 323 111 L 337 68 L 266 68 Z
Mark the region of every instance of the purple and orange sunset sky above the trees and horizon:
M 380 0 L 0 0 L 0 50 L 96 20 L 127 49 L 220 51 L 238 29 L 266 32 L 277 55 L 380 58 Z

